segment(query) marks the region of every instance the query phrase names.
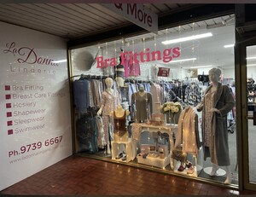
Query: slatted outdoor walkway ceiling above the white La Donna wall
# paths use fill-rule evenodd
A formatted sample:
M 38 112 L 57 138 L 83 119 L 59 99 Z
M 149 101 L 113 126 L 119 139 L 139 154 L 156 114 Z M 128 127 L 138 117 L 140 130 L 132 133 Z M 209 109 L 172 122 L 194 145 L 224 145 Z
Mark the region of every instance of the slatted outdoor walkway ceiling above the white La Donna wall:
M 192 5 L 144 3 L 144 6 L 161 15 Z M 0 21 L 69 39 L 131 24 L 100 3 L 1 3 Z

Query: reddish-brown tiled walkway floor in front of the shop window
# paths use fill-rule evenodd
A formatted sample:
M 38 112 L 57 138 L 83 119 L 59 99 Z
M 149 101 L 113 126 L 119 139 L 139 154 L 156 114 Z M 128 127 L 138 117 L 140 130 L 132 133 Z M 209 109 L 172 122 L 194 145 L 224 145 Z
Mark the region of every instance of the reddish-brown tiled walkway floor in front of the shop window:
M 0 194 L 256 194 L 107 161 L 71 156 Z

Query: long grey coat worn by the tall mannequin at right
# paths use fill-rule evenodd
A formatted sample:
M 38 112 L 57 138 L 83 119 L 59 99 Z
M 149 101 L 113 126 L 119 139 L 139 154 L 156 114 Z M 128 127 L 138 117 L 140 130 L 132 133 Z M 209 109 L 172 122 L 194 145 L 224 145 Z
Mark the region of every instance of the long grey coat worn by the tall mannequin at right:
M 211 90 L 210 85 L 205 94 Z M 230 165 L 230 153 L 228 142 L 228 129 L 227 129 L 227 113 L 235 106 L 235 100 L 227 85 L 218 83 L 217 92 L 213 98 L 214 107 L 219 110 L 220 113 L 214 113 L 212 116 L 212 142 L 211 148 L 207 149 L 204 146 L 204 99 L 197 107 L 199 112 L 202 111 L 202 141 L 204 150 L 204 159 L 211 156 L 211 162 L 216 165 L 224 166 Z M 209 150 L 209 151 L 207 151 Z

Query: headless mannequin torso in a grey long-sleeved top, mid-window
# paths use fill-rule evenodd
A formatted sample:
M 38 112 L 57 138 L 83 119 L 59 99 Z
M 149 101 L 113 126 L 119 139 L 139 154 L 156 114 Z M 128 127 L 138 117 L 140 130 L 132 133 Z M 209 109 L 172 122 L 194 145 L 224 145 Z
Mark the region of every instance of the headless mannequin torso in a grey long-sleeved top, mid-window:
M 133 108 L 134 104 L 135 109 Z M 135 119 L 136 122 L 144 122 L 149 119 L 149 116 L 151 117 L 152 110 L 152 94 L 144 91 L 144 87 L 141 84 L 139 90 L 131 95 L 131 118 Z

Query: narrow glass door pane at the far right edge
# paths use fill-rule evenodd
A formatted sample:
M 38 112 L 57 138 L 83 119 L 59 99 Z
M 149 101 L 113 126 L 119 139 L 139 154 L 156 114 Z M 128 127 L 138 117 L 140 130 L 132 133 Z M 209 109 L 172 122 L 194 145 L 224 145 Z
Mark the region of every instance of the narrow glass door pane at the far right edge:
M 256 46 L 247 47 L 247 107 L 248 117 L 253 117 L 256 105 Z M 255 125 L 248 119 L 249 181 L 256 183 Z

